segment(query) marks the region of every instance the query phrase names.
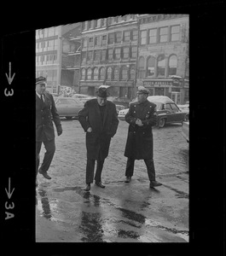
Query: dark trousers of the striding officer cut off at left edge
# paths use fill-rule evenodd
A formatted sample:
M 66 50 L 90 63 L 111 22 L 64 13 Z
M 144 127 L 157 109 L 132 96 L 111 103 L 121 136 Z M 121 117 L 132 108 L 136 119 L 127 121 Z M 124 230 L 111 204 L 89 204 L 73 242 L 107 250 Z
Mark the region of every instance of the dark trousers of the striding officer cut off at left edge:
M 44 144 L 44 148 L 46 150 L 43 157 L 42 166 L 40 167 L 43 172 L 47 172 L 49 170 L 49 166 L 55 154 L 55 139 L 52 139 L 50 141 L 46 140 L 43 142 L 36 142 L 36 175 L 38 174 L 38 166 L 40 162 L 39 153 L 42 147 L 42 143 Z

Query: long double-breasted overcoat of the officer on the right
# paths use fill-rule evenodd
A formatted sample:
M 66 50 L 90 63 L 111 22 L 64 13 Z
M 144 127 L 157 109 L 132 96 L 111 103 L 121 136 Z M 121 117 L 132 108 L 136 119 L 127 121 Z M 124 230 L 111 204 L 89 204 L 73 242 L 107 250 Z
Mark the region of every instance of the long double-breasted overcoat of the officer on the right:
M 153 132 L 156 125 L 156 105 L 152 102 L 134 102 L 130 104 L 125 121 L 129 123 L 125 156 L 135 160 L 153 159 Z M 136 125 L 136 119 L 142 120 L 142 126 Z

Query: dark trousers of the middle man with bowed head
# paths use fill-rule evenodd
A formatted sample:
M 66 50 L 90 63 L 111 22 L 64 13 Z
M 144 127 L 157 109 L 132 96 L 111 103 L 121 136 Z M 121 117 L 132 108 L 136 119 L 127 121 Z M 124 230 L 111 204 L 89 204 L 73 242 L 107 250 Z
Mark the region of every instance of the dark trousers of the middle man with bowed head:
M 96 160 L 93 160 L 93 159 L 87 159 L 86 176 L 85 176 L 85 182 L 87 184 L 93 183 L 95 161 Z M 95 174 L 96 183 L 101 182 L 101 172 L 103 169 L 103 163 L 104 163 L 104 160 L 97 160 L 96 174 Z

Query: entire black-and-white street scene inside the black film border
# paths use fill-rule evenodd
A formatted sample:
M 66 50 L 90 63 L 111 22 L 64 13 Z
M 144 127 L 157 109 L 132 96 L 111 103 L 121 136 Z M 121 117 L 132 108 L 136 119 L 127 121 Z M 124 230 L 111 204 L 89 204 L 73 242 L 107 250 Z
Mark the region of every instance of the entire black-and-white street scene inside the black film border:
M 36 30 L 36 94 L 37 242 L 189 241 L 189 15 Z

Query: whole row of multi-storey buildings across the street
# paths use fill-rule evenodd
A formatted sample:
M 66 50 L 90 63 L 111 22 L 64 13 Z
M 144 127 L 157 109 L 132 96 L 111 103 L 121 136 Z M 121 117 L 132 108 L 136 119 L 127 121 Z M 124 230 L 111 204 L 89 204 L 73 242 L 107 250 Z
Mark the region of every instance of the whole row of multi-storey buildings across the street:
M 36 73 L 48 90 L 59 85 L 95 95 L 101 84 L 130 102 L 143 85 L 150 95 L 189 101 L 188 15 L 124 15 L 36 32 Z

